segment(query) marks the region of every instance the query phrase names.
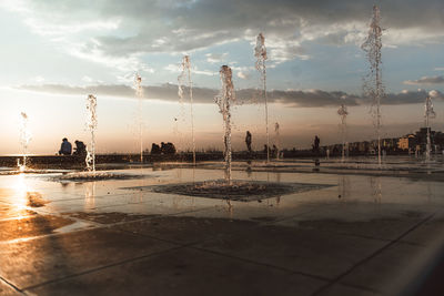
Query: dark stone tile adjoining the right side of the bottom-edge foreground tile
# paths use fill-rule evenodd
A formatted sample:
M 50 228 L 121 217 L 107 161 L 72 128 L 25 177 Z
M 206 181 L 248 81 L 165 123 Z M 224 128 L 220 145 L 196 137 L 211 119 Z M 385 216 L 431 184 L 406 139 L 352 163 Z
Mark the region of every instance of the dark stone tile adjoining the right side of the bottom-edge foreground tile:
M 290 227 L 262 226 L 198 247 L 293 272 L 334 278 L 384 246 L 383 241 Z

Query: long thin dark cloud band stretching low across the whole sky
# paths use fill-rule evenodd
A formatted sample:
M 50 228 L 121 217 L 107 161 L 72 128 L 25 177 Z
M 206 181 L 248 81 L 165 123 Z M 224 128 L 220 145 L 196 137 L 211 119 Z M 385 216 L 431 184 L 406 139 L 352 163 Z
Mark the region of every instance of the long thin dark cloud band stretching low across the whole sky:
M 89 85 L 89 86 L 70 86 L 60 84 L 42 84 L 42 85 L 22 85 L 19 89 L 60 93 L 70 95 L 87 95 L 93 93 L 97 95 L 109 95 L 120 98 L 135 98 L 134 89 L 128 85 Z M 206 88 L 193 88 L 193 99 L 196 103 L 213 103 L 214 96 L 219 90 Z M 144 86 L 143 95 L 148 100 L 162 100 L 178 102 L 178 85 L 164 84 L 161 86 Z M 259 90 L 243 89 L 235 92 L 236 100 L 240 104 L 258 103 L 263 100 Z M 390 93 L 382 100 L 382 104 L 415 104 L 423 103 L 428 93 L 425 90 L 402 91 L 401 93 Z M 434 99 L 444 100 L 444 94 L 438 91 L 431 92 Z M 289 106 L 319 108 L 319 106 L 337 106 L 344 102 L 349 106 L 369 104 L 369 100 L 357 95 L 347 94 L 345 92 L 325 92 L 321 90 L 310 91 L 280 91 L 274 90 L 268 92 L 269 102 L 281 103 Z

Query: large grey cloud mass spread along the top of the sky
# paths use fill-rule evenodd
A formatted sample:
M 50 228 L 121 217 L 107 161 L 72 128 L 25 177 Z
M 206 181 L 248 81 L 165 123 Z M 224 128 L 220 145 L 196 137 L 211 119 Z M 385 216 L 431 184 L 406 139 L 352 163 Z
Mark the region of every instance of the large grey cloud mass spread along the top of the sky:
M 389 29 L 385 44 L 443 42 L 443 1 L 377 2 Z M 8 0 L 2 7 L 75 57 L 118 69 L 129 63 L 131 70 L 143 68 L 143 53 L 254 42 L 259 31 L 265 33 L 271 61 L 309 59 L 310 43 L 360 44 L 372 10 L 371 2 L 356 0 Z

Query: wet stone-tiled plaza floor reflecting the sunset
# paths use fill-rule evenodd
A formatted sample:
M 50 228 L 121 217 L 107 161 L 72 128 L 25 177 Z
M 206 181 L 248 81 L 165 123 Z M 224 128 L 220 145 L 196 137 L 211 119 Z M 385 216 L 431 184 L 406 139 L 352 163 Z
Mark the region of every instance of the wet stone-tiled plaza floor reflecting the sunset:
M 185 185 L 220 170 L 118 173 L 143 177 L 0 176 L 0 295 L 406 295 L 441 254 L 444 182 L 234 171 L 285 190 L 214 198 Z

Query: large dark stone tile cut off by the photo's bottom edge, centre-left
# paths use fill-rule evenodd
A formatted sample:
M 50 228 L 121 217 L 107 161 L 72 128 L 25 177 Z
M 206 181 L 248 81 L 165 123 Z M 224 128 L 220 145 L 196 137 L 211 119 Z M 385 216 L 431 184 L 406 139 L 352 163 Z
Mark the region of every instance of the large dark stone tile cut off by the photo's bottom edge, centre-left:
M 311 295 L 325 282 L 191 248 L 30 289 L 37 295 Z

